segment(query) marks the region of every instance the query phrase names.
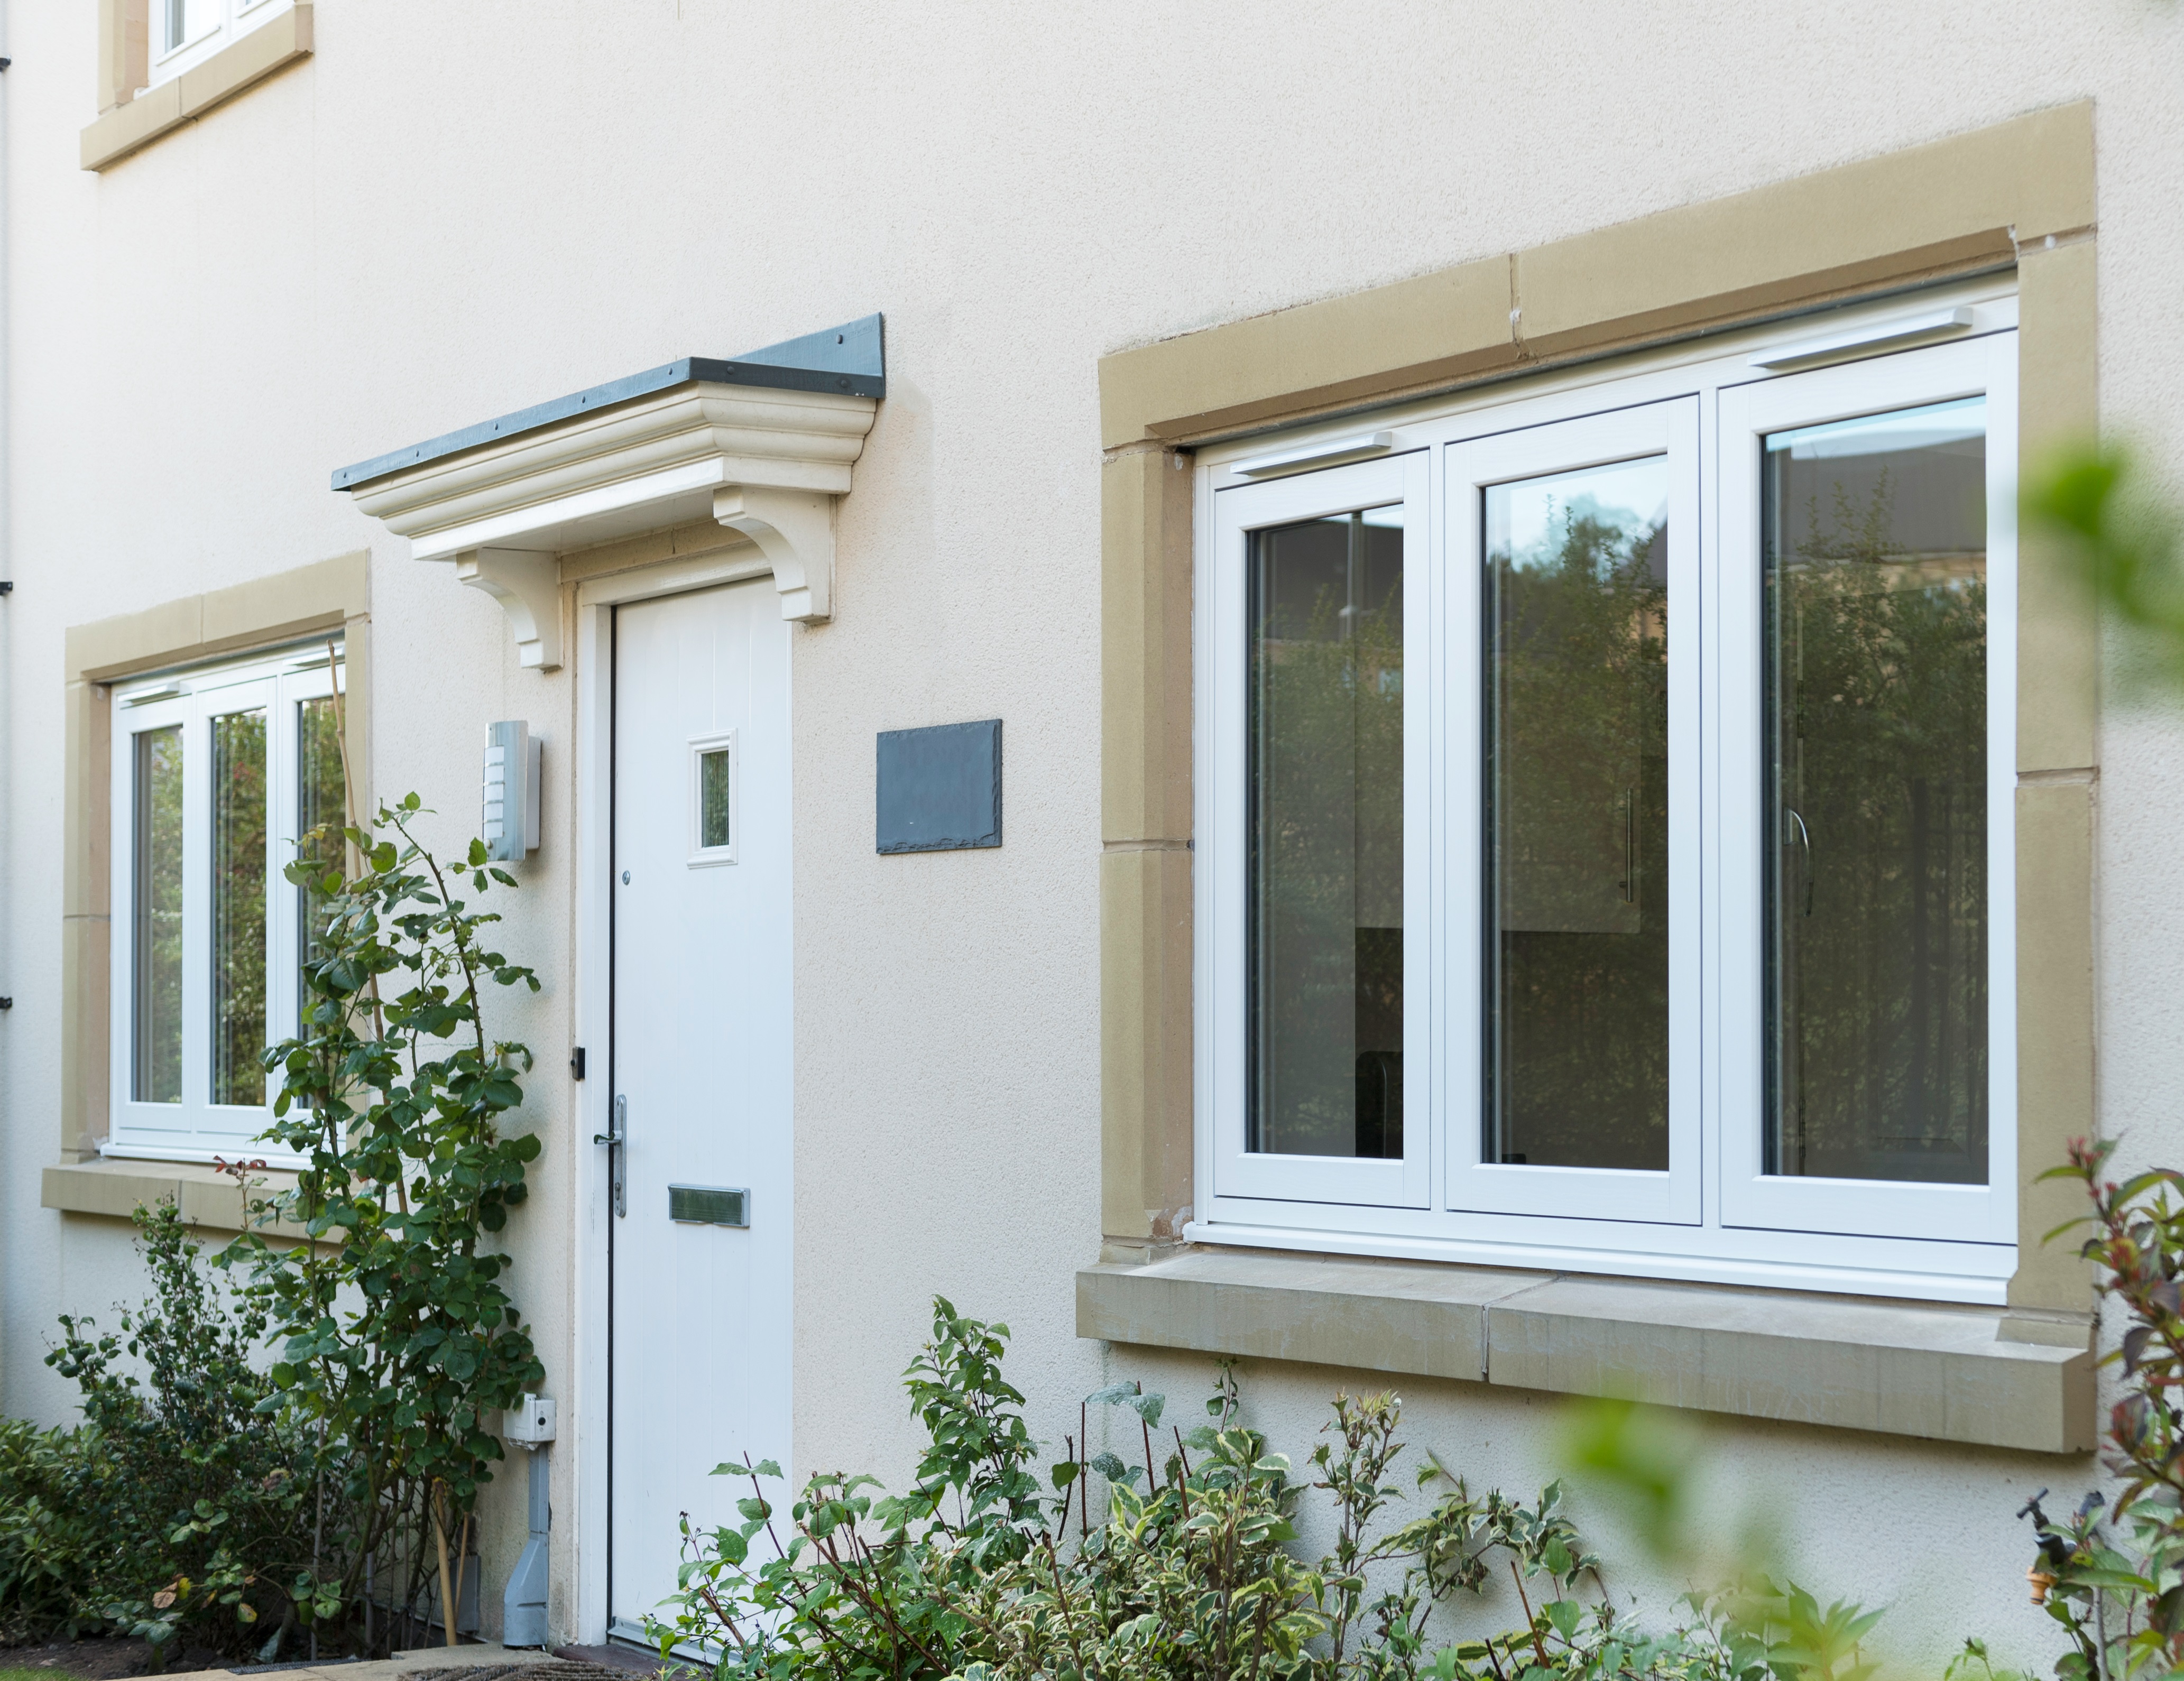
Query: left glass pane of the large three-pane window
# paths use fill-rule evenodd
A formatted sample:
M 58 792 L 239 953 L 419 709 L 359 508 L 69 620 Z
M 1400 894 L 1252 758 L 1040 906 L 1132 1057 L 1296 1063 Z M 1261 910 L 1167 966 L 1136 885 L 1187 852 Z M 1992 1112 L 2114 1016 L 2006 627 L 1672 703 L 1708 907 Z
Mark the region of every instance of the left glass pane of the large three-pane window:
M 1249 1140 L 1402 1157 L 1402 511 L 1249 561 Z

